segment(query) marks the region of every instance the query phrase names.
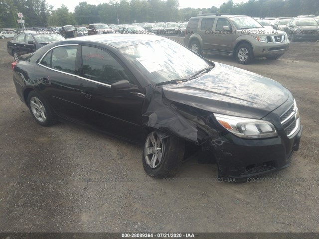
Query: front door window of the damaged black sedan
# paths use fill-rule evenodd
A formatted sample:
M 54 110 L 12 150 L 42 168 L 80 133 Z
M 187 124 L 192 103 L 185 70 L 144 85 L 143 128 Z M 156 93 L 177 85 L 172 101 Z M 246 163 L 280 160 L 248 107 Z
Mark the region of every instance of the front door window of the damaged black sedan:
M 82 46 L 82 63 L 85 78 L 109 85 L 121 80 L 130 80 L 122 65 L 101 49 Z

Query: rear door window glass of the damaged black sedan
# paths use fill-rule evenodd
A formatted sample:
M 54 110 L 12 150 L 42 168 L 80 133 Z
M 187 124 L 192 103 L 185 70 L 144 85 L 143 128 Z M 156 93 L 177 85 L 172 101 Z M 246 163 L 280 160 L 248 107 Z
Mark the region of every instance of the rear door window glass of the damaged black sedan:
M 54 69 L 75 74 L 77 46 L 60 46 L 52 50 L 51 66 Z

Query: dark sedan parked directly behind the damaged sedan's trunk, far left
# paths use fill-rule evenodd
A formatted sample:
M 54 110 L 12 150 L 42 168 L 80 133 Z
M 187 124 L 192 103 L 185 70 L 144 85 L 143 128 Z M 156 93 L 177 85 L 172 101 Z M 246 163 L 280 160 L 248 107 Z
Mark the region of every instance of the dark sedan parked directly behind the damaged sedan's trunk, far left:
M 42 31 L 25 31 L 16 35 L 7 42 L 6 48 L 9 55 L 18 61 L 20 55 L 36 51 L 50 42 L 61 41 L 65 39 L 59 34 L 46 34 Z

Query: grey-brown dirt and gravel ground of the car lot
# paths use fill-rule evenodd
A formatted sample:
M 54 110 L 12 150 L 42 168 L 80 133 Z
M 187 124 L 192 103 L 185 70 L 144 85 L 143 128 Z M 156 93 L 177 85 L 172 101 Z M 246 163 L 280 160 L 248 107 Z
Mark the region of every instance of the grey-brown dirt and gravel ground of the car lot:
M 180 41 L 180 37 L 172 37 Z M 239 65 L 292 91 L 304 125 L 290 167 L 255 182 L 218 182 L 215 164 L 146 175 L 142 146 L 73 123 L 42 127 L 12 82 L 0 40 L 0 232 L 319 232 L 319 42 Z

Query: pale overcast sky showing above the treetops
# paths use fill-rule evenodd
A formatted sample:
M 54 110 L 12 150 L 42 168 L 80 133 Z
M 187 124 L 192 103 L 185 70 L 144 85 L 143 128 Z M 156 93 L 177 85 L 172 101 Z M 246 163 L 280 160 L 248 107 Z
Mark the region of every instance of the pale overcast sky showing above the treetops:
M 69 8 L 69 11 L 74 11 L 74 7 L 79 4 L 80 1 L 85 0 L 46 0 L 49 5 L 53 5 L 54 8 L 60 7 L 62 4 Z M 234 3 L 246 2 L 247 0 L 233 0 Z M 89 4 L 97 5 L 99 3 L 108 2 L 104 0 L 87 0 Z M 192 7 L 192 8 L 210 8 L 212 6 L 219 7 L 223 2 L 227 0 L 179 0 L 179 6 L 181 8 Z

